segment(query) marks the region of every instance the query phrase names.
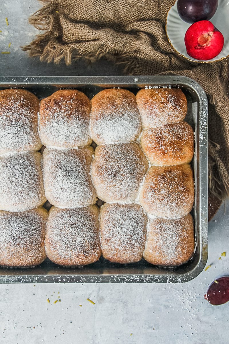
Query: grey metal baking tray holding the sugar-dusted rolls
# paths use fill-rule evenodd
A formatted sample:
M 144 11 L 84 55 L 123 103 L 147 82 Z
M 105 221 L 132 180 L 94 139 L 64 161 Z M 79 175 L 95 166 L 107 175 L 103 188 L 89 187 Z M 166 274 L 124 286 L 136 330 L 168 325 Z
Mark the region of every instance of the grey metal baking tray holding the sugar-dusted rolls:
M 204 90 L 184 76 L 52 76 L 0 77 L 0 89 L 26 88 L 38 98 L 47 97 L 59 88 L 77 88 L 92 98 L 102 88 L 124 87 L 136 93 L 139 88 L 180 87 L 188 101 L 186 121 L 195 131 L 193 170 L 195 203 L 192 215 L 195 223 L 196 249 L 193 258 L 173 269 L 150 265 L 144 259 L 135 264 L 113 264 L 103 258 L 83 268 L 63 268 L 46 260 L 32 269 L 0 268 L 0 283 L 57 283 L 57 282 L 149 282 L 181 283 L 195 278 L 207 262 L 207 113 Z

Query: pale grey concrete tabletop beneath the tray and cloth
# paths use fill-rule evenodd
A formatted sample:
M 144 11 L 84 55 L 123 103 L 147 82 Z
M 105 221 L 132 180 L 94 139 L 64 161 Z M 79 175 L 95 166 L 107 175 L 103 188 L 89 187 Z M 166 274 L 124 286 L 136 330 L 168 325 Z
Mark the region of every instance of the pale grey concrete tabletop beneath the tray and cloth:
M 36 0 L 0 0 L 0 51 L 11 52 L 0 54 L 0 75 L 122 74 L 104 60 L 93 65 L 81 61 L 66 67 L 27 58 L 20 46 L 30 42 L 37 33 L 27 24 L 27 17 L 38 8 Z M 209 283 L 229 274 L 228 247 L 229 203 L 221 206 L 209 224 L 207 265 L 211 267 L 191 282 L 2 284 L 0 343 L 226 344 L 229 303 L 213 307 L 203 295 Z M 223 251 L 228 251 L 227 256 L 218 260 Z M 54 303 L 58 297 L 61 302 Z

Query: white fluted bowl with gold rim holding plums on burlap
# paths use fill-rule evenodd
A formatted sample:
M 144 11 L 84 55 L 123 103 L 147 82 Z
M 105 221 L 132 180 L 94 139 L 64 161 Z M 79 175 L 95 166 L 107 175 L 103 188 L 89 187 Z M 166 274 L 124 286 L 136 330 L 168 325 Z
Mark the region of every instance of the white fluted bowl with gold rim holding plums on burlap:
M 204 0 L 202 0 L 204 1 Z M 229 56 L 229 0 L 219 0 L 218 8 L 214 16 L 210 19 L 213 25 L 224 36 L 224 47 L 216 57 L 211 60 L 200 61 L 189 56 L 184 44 L 184 36 L 191 24 L 184 22 L 178 14 L 177 0 L 170 8 L 166 18 L 166 34 L 173 49 L 189 61 L 197 63 L 213 63 L 224 60 Z

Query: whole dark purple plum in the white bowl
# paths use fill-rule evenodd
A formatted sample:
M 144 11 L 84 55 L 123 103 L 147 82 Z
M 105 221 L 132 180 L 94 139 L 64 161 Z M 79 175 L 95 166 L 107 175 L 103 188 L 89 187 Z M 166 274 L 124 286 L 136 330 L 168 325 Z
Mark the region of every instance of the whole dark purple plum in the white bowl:
M 178 0 L 177 9 L 186 23 L 209 20 L 216 13 L 218 0 Z

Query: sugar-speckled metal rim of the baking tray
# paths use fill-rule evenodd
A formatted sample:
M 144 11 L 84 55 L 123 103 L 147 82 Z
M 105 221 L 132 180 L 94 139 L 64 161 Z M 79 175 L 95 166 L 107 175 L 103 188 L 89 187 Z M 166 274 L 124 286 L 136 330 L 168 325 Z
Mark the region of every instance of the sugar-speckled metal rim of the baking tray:
M 0 76 L 0 88 L 43 86 L 50 85 L 56 87 L 65 87 L 66 85 L 82 86 L 93 84 L 102 87 L 123 86 L 123 87 L 144 87 L 147 85 L 183 85 L 194 92 L 199 104 L 199 132 L 205 133 L 199 144 L 199 233 L 200 247 L 199 259 L 196 266 L 186 273 L 173 274 L 58 274 L 43 275 L 41 273 L 24 274 L 23 270 L 6 270 L 5 275 L 0 276 L 0 283 L 183 283 L 188 282 L 198 276 L 204 269 L 208 257 L 208 208 L 207 208 L 207 126 L 208 126 L 208 100 L 203 88 L 195 80 L 179 75 L 168 76 Z M 111 86 L 112 85 L 112 86 Z M 202 120 L 201 121 L 201 117 Z M 14 272 L 11 273 L 10 272 Z M 28 271 L 28 270 L 24 270 Z M 78 270 L 79 271 L 79 270 Z M 168 270 L 167 270 L 168 271 Z

